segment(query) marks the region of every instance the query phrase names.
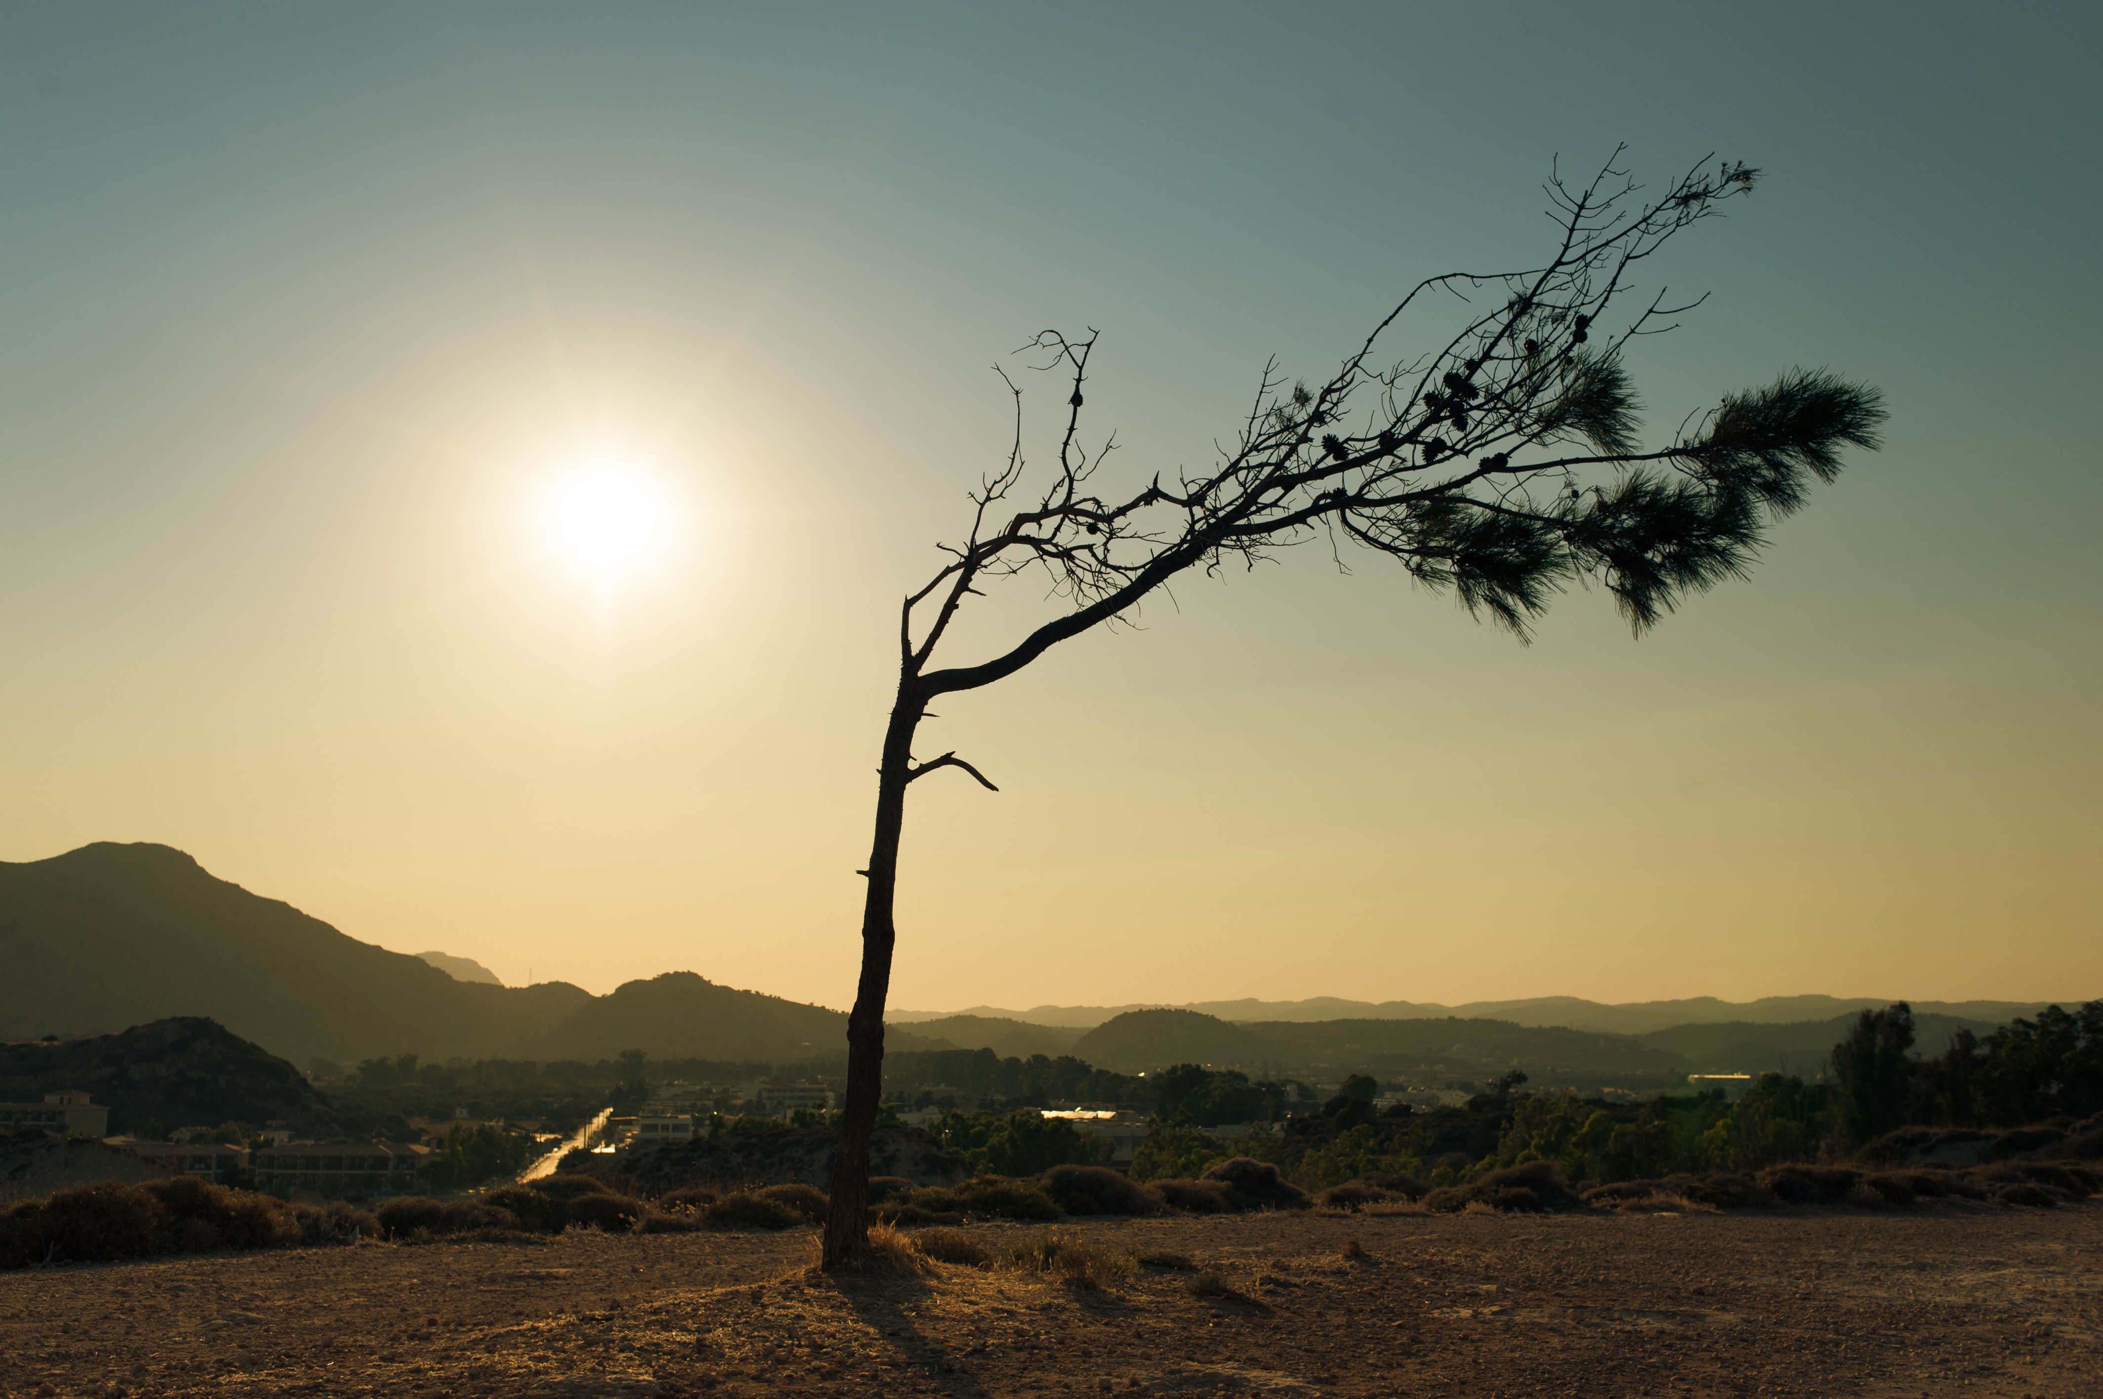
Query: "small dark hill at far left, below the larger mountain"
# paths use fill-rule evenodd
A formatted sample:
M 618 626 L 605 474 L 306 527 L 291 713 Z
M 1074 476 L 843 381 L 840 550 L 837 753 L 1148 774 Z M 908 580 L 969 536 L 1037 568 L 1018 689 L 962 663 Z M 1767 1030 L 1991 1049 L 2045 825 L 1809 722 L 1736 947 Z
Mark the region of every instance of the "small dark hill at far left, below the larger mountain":
M 284 1121 L 315 1138 L 341 1126 L 336 1109 L 299 1069 L 196 1016 L 88 1039 L 0 1043 L 0 1098 L 38 1102 L 61 1088 L 109 1104 L 111 1136 L 156 1121 L 162 1128 Z

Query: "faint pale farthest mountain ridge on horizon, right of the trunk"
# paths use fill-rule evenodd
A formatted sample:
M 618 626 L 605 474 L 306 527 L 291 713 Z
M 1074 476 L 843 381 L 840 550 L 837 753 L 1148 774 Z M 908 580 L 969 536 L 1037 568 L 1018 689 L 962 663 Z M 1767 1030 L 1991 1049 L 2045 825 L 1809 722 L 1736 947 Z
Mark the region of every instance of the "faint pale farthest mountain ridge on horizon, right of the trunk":
M 1851 1016 L 1859 1010 L 1882 1010 L 1905 997 L 1838 997 L 1838 995 L 1769 995 L 1756 1001 L 1722 1001 L 1697 995 L 1680 1001 L 1628 1001 L 1609 1006 L 1573 995 L 1537 995 L 1518 1001 L 1466 1001 L 1438 1006 L 1432 1001 L 1346 1001 L 1319 995 L 1306 1001 L 1140 1001 L 1134 1006 L 1035 1006 L 1003 1010 L 972 1006 L 967 1010 L 894 1010 L 892 1025 L 919 1027 L 930 1020 L 1009 1020 L 1033 1027 L 1089 1031 L 1136 1010 L 1192 1010 L 1234 1025 L 1258 1020 L 1508 1020 L 1541 1029 L 1575 1029 L 1602 1035 L 1649 1035 L 1678 1025 L 1806 1025 Z M 2061 1001 L 1912 1001 L 1922 1016 L 1952 1016 L 1966 1022 L 2004 1025 L 2015 1016 L 2034 1016 L 2046 1006 L 2076 1006 L 2086 997 Z

